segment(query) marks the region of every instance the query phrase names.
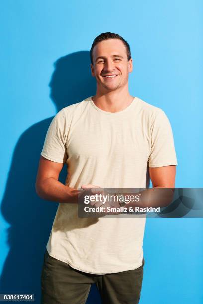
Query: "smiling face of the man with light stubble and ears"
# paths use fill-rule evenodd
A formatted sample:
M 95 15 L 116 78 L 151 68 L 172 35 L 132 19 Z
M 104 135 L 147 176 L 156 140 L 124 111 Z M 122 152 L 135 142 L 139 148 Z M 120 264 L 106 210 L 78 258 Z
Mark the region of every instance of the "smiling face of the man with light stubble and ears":
M 128 61 L 127 50 L 120 39 L 103 40 L 93 49 L 92 76 L 96 78 L 101 93 L 114 91 L 128 84 L 132 72 L 132 59 Z

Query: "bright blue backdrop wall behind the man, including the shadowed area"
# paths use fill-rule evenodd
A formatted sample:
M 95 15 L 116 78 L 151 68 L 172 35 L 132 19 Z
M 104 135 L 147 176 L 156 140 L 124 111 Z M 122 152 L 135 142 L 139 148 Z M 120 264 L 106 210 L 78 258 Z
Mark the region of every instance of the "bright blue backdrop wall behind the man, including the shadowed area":
M 43 254 L 58 204 L 35 194 L 38 159 L 52 117 L 95 92 L 88 51 L 101 32 L 130 43 L 131 94 L 169 117 L 176 187 L 203 187 L 202 3 L 1 1 L 0 293 L 35 293 L 40 303 Z M 203 303 L 202 232 L 202 219 L 147 220 L 141 304 Z M 95 286 L 90 303 L 100 303 Z

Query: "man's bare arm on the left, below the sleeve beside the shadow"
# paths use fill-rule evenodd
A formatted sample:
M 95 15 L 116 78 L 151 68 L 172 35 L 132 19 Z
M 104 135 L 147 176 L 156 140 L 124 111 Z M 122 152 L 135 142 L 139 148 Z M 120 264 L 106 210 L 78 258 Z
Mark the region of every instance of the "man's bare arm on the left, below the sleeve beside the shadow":
M 78 194 L 81 191 L 65 186 L 58 178 L 64 163 L 58 163 L 40 157 L 36 179 L 37 194 L 49 201 L 61 203 L 78 203 Z

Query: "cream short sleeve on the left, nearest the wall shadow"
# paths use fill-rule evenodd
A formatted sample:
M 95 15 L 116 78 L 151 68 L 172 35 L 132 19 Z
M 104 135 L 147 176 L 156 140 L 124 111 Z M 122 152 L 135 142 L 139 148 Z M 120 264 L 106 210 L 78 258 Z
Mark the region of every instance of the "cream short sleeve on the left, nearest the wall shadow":
M 61 110 L 48 128 L 41 155 L 54 162 L 66 162 L 66 133 L 65 113 Z

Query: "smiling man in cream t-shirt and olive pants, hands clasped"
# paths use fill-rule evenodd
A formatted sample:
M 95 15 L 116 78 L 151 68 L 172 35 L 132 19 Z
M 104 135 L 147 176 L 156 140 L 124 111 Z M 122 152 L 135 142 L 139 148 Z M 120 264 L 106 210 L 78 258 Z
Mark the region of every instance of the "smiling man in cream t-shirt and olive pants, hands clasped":
M 161 109 L 130 95 L 132 68 L 121 36 L 96 37 L 96 95 L 62 109 L 47 132 L 36 191 L 60 204 L 42 269 L 42 304 L 85 303 L 93 283 L 104 304 L 139 302 L 145 218 L 78 217 L 79 188 L 145 188 L 149 177 L 153 187 L 174 187 L 170 123 Z M 64 163 L 66 185 L 58 181 Z

